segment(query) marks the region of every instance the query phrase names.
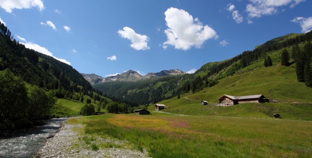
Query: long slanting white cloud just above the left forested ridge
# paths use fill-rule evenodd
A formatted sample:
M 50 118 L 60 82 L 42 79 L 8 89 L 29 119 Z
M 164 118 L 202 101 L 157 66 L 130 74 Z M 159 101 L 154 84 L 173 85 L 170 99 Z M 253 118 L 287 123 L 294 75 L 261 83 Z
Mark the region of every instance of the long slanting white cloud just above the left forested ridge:
M 71 65 L 70 62 L 66 61 L 65 59 L 60 59 L 60 58 L 57 58 L 57 57 L 54 57 L 52 52 L 50 52 L 47 48 L 44 48 L 38 44 L 35 44 L 35 43 L 32 43 L 32 42 L 28 42 L 25 38 L 23 37 L 20 37 L 20 36 L 16 36 L 18 39 L 20 39 L 21 41 L 25 42 L 21 42 L 21 44 L 24 44 L 26 48 L 29 48 L 29 49 L 34 49 L 38 52 L 40 52 L 41 54 L 44 54 L 44 55 L 47 55 L 47 56 L 50 56 L 50 57 L 53 57 L 54 59 L 60 61 L 60 62 L 63 62 L 65 64 L 68 64 L 68 65 Z

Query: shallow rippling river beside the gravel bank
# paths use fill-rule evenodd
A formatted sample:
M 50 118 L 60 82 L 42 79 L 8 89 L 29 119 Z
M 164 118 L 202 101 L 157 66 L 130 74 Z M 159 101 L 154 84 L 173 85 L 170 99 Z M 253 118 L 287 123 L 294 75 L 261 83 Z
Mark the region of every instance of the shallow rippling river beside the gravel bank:
M 0 157 L 32 157 L 64 120 L 66 118 L 50 119 L 45 125 L 5 134 L 0 137 Z

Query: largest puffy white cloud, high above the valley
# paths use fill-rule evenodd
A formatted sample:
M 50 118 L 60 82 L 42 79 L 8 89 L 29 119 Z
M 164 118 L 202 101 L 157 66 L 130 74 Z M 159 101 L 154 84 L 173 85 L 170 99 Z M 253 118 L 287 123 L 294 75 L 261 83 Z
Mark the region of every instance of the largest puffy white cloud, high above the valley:
M 211 38 L 218 38 L 217 33 L 208 25 L 203 25 L 198 18 L 193 18 L 188 12 L 176 8 L 169 8 L 165 12 L 165 20 L 168 29 L 165 30 L 167 41 L 163 48 L 168 45 L 175 49 L 188 50 L 192 46 L 200 48 L 203 43 Z

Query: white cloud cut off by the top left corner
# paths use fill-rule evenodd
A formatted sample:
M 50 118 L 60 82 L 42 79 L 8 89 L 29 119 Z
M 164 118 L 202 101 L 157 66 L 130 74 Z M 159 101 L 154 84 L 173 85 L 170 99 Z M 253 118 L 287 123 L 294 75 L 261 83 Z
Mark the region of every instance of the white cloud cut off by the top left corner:
M 37 7 L 39 11 L 44 9 L 41 0 L 1 0 L 0 6 L 8 13 L 12 13 L 12 9 L 30 9 L 32 7 Z

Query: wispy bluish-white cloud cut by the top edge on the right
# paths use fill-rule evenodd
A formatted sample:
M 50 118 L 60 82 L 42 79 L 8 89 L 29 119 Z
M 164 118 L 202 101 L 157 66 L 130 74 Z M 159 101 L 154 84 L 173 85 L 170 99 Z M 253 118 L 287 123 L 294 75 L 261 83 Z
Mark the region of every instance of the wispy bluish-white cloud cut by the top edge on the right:
M 305 0 L 249 0 L 246 11 L 248 17 L 261 17 L 263 15 L 272 15 L 278 12 L 278 8 L 282 6 L 295 7 Z

